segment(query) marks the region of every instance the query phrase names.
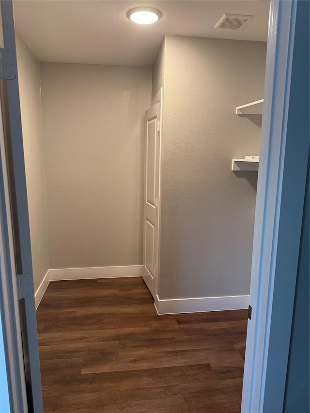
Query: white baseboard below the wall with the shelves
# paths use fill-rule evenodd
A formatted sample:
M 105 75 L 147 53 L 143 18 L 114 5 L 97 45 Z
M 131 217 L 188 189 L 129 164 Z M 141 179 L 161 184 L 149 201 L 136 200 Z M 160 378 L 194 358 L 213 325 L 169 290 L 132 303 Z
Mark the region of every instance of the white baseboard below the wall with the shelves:
M 205 311 L 240 310 L 248 308 L 248 295 L 228 297 L 180 298 L 171 300 L 155 299 L 158 314 L 199 313 Z

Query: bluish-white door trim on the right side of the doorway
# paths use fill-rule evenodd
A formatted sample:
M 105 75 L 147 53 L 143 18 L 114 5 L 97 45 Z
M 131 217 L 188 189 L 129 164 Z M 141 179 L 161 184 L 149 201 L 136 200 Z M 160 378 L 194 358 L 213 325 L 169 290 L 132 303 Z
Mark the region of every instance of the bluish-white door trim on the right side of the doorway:
M 264 411 L 269 340 L 270 333 L 273 333 L 272 329 L 277 329 L 279 333 L 273 341 L 273 346 L 276 346 L 279 359 L 281 359 L 281 371 L 278 372 L 277 380 L 283 384 L 282 376 L 284 373 L 286 376 L 286 368 L 283 372 L 283 367 L 286 366 L 283 364 L 285 365 L 285 356 L 288 356 L 290 342 L 288 331 L 291 331 L 290 317 L 292 319 L 295 291 L 292 288 L 292 281 L 294 281 L 294 273 L 295 275 L 297 273 L 305 193 L 305 182 L 302 181 L 303 177 L 306 180 L 309 154 L 309 136 L 298 136 L 298 148 L 294 145 L 296 152 L 286 150 L 286 127 L 298 3 L 299 1 L 291 0 L 271 1 L 249 299 L 252 306 L 252 320 L 248 321 L 241 407 L 243 413 Z M 306 141 L 308 141 L 308 153 Z M 285 179 L 287 173 L 290 173 L 293 179 Z M 296 177 L 301 181 L 299 184 L 296 184 L 298 181 Z M 291 221 L 287 220 L 287 212 L 290 208 Z M 282 214 L 286 214 L 286 221 Z M 287 237 L 287 231 L 283 232 L 288 222 L 292 224 L 289 237 Z M 286 254 L 283 253 L 283 248 L 281 249 L 283 237 L 285 237 Z M 282 293 L 285 292 L 285 295 L 280 298 L 278 295 L 280 289 L 278 286 L 278 291 L 276 291 L 275 278 L 281 265 L 283 270 L 283 264 L 286 264 L 285 274 L 288 272 L 293 280 L 291 279 L 290 283 L 282 288 Z M 283 310 L 282 317 L 285 319 L 285 322 L 280 323 L 278 328 L 272 325 L 275 305 L 277 305 L 278 312 L 279 309 L 280 313 Z M 279 392 L 273 396 L 279 405 L 281 402 L 283 404 L 284 386 L 281 389 L 277 387 Z M 273 411 L 280 412 L 282 409 Z

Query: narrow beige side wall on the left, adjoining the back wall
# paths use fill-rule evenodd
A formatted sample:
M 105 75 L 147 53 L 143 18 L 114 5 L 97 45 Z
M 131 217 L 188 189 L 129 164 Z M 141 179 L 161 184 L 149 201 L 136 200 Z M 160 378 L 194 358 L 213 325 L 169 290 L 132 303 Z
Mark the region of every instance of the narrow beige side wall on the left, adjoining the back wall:
M 18 36 L 16 36 L 16 55 L 25 153 L 33 281 L 36 290 L 49 268 L 40 63 Z

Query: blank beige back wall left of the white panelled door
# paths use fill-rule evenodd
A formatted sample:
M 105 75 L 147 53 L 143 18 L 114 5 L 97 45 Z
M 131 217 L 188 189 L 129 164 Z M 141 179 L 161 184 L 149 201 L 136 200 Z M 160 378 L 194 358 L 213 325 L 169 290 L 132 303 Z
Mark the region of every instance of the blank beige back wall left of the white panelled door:
M 50 268 L 142 263 L 151 68 L 41 63 Z

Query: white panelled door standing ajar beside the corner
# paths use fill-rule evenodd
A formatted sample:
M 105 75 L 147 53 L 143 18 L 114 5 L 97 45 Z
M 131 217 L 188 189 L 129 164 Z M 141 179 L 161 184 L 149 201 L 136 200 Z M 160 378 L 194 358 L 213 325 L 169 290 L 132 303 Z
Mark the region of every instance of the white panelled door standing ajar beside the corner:
M 160 103 L 145 111 L 143 279 L 153 297 L 157 293 Z

